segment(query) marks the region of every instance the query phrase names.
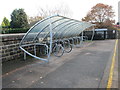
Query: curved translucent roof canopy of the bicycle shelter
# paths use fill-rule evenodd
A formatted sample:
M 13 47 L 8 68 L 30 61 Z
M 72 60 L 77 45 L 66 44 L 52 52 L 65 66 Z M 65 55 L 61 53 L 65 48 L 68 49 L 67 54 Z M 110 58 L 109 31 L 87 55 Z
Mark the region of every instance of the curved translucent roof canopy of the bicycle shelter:
M 54 15 L 39 21 L 33 27 L 31 27 L 21 40 L 20 48 L 25 51 L 25 53 L 32 55 L 23 48 L 24 46 L 27 46 L 27 44 L 29 44 L 30 42 L 35 44 L 38 43 L 38 41 L 39 43 L 43 43 L 46 39 L 58 40 L 63 38 L 75 37 L 78 36 L 85 29 L 92 26 L 94 25 L 88 22 L 78 21 L 60 15 Z

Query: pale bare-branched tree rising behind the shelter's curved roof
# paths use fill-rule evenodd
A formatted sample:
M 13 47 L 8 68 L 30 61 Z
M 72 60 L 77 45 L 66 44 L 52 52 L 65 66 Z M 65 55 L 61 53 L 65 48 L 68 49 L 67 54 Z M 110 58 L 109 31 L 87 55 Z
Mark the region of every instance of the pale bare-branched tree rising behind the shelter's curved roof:
M 38 14 L 34 17 L 28 17 L 29 26 L 33 26 L 36 22 L 44 19 L 45 17 L 52 16 L 52 15 L 61 15 L 70 17 L 72 12 L 70 11 L 69 7 L 65 4 L 57 5 L 54 8 L 38 8 Z

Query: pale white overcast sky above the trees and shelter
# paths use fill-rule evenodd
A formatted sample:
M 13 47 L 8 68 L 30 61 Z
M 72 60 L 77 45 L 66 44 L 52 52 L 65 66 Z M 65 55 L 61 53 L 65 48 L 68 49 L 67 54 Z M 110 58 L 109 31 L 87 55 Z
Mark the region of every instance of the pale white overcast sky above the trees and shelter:
M 1 0 L 0 1 L 0 24 L 4 17 L 10 20 L 10 14 L 16 8 L 24 8 L 28 16 L 38 14 L 38 8 L 54 8 L 64 4 L 72 12 L 71 18 L 81 20 L 85 17 L 91 7 L 97 3 L 113 6 L 115 20 L 118 21 L 119 0 Z

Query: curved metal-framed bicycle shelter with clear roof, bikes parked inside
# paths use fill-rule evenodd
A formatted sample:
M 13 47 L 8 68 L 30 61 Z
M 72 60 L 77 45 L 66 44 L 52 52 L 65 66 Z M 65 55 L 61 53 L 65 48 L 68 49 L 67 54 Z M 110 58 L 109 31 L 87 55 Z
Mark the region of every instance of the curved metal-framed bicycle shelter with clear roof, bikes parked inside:
M 84 30 L 92 30 L 91 40 L 94 36 L 94 24 L 70 19 L 60 15 L 50 16 L 32 26 L 20 42 L 20 49 L 36 59 L 49 62 L 51 54 L 62 56 L 69 53 L 75 44 L 87 39 Z M 45 57 L 44 57 L 45 55 Z

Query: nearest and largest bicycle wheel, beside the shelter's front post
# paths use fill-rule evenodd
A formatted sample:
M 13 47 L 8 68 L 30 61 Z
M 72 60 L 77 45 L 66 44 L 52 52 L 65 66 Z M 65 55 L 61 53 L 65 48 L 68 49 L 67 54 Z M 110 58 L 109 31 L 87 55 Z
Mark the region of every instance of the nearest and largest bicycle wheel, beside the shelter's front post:
M 61 57 L 64 53 L 64 48 L 61 45 L 56 45 L 53 48 L 53 53 L 56 57 Z

